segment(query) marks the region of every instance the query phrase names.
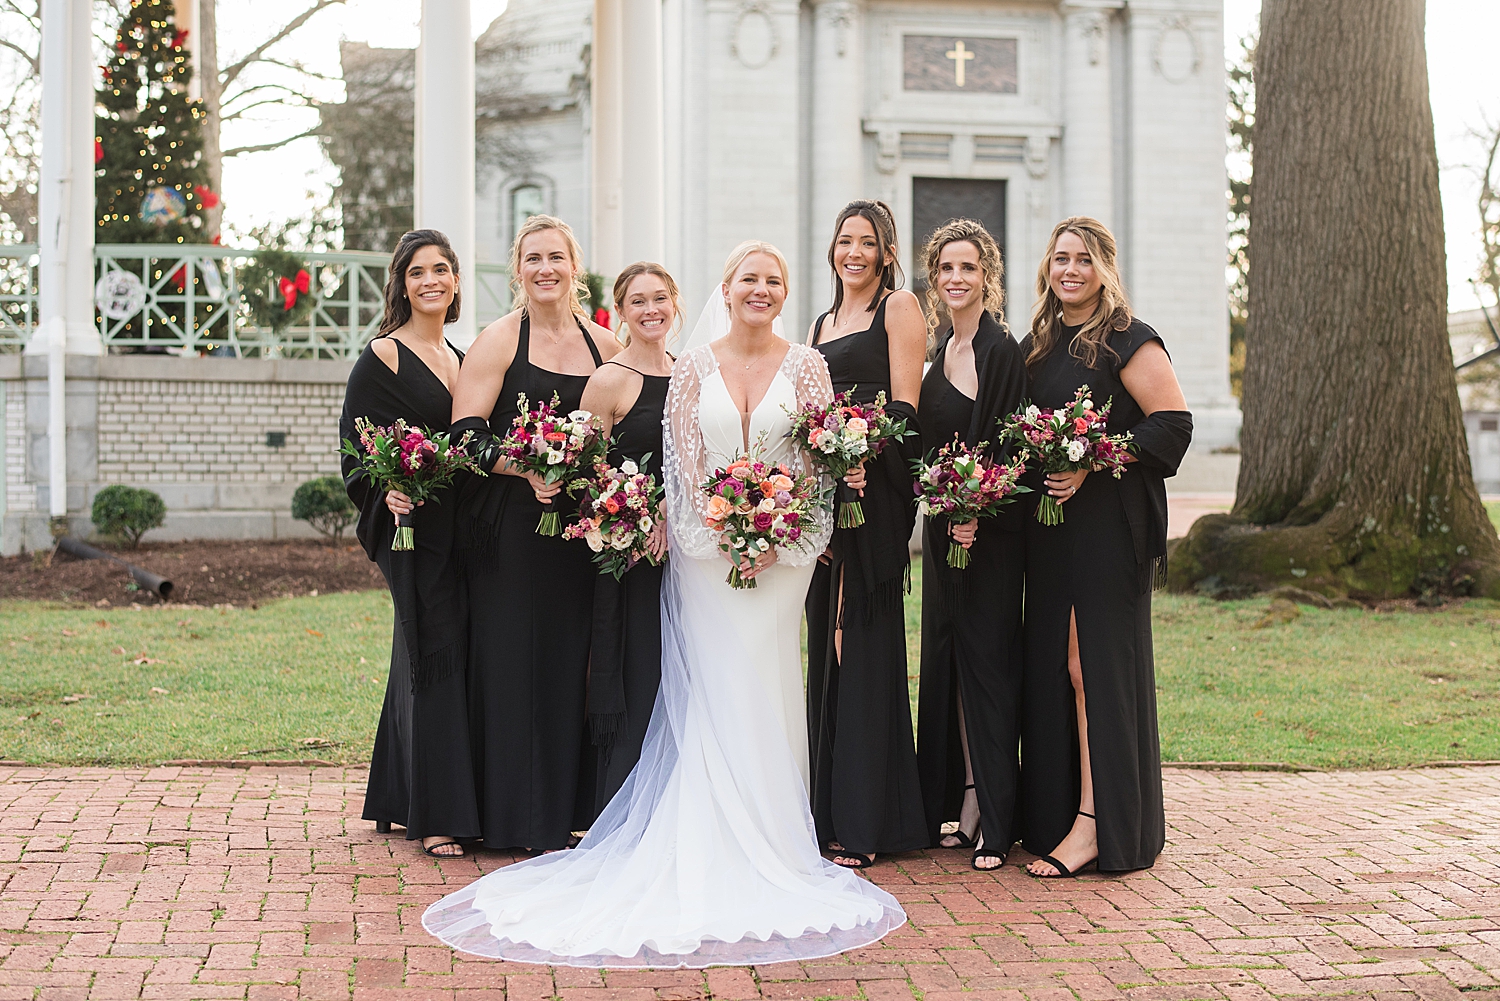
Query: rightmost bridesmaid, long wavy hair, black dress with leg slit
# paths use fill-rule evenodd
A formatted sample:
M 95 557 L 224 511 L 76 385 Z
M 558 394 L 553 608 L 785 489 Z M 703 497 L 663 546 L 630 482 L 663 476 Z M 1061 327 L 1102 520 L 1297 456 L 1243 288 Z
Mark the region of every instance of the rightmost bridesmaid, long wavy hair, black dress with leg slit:
M 1166 573 L 1164 479 L 1192 414 L 1161 338 L 1131 315 L 1114 237 L 1095 219 L 1052 231 L 1022 350 L 1032 402 L 1060 407 L 1083 384 L 1101 404 L 1113 398 L 1110 434 L 1130 431 L 1138 459 L 1119 480 L 1084 470 L 1032 483 L 1066 521 L 1026 519 L 1022 813 L 1023 843 L 1041 855 L 1026 870 L 1143 869 L 1166 837 L 1150 591 Z M 1040 494 L 1028 500 L 1035 510 Z

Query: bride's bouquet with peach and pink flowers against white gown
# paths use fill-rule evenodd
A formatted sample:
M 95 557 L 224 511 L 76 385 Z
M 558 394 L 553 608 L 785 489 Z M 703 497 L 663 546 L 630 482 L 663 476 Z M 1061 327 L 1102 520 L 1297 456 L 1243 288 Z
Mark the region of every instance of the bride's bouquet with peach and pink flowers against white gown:
M 734 588 L 754 587 L 754 578 L 740 572 L 740 557 L 754 558 L 771 546 L 801 546 L 802 528 L 818 503 L 818 477 L 798 477 L 784 462 L 765 462 L 754 453 L 714 470 L 704 480 L 708 494 L 706 524 L 718 533 L 718 548 L 735 557 L 726 582 Z

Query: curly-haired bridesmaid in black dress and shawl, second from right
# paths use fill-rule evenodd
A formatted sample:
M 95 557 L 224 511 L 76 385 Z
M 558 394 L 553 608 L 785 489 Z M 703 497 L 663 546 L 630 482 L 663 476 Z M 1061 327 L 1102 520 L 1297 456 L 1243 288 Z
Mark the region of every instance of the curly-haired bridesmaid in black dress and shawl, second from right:
M 1026 396 L 1026 365 L 1002 320 L 1004 264 L 994 237 L 972 219 L 938 228 L 922 252 L 927 324 L 942 330 L 922 380 L 922 446 L 954 440 L 1000 458 L 996 420 Z M 945 323 L 946 321 L 946 323 Z M 948 540 L 969 567 L 948 566 Z M 975 869 L 998 869 L 1017 837 L 1020 776 L 1020 504 L 982 524 L 928 518 L 922 542 L 922 665 L 918 759 L 930 837 L 974 848 Z M 945 821 L 958 830 L 939 840 Z

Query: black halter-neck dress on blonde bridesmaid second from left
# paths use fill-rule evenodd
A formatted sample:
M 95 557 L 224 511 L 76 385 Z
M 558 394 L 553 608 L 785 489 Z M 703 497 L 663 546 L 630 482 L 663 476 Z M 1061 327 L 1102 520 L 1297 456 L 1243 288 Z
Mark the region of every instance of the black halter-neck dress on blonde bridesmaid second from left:
M 592 338 L 579 324 L 597 366 Z M 504 437 L 516 398 L 536 407 L 560 398 L 578 410 L 586 375 L 531 363 L 531 320 L 522 318 L 488 431 Z M 483 423 L 470 417 L 454 425 Z M 564 848 L 592 822 L 594 750 L 585 726 L 590 623 L 598 567 L 582 542 L 538 536 L 543 504 L 519 476 L 470 482 L 464 582 L 470 600 L 470 734 L 480 821 L 489 848 Z M 552 509 L 567 516 L 566 492 Z

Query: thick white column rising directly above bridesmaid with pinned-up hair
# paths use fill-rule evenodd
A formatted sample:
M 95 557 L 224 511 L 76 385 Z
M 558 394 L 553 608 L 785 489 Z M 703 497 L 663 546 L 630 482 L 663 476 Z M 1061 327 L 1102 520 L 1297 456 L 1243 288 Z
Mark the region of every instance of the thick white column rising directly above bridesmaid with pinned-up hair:
M 622 0 L 620 8 L 621 264 L 660 263 L 666 252 L 662 0 Z

